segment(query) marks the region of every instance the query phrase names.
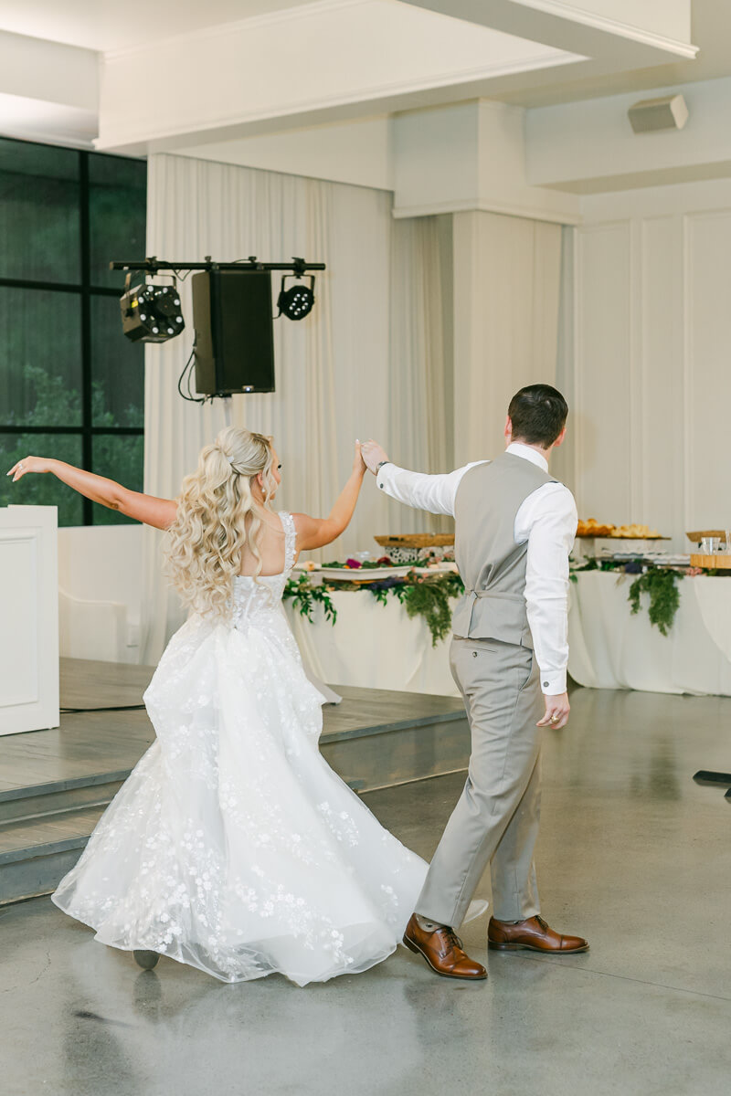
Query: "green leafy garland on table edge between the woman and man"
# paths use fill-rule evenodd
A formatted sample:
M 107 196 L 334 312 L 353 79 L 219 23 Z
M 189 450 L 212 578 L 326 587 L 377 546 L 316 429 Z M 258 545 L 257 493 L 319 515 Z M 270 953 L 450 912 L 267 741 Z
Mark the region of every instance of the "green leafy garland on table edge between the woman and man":
M 300 616 L 307 617 L 310 623 L 313 621 L 315 604 L 321 604 L 325 620 L 330 620 L 334 625 L 338 612 L 330 594 L 335 589 L 367 591 L 382 605 L 388 603 L 389 597 L 396 597 L 403 605 L 409 617 L 421 616 L 424 618 L 432 635 L 432 647 L 436 647 L 441 640 L 446 639 L 452 630 L 449 602 L 459 597 L 465 586 L 459 575 L 452 572 L 423 576 L 410 572 L 384 579 L 382 582 L 372 582 L 368 585 L 343 582 L 339 583 L 338 587 L 332 585 L 316 586 L 308 581 L 307 575 L 302 575 L 297 581 L 289 579 L 283 596 L 285 600 L 292 598 L 293 605 Z

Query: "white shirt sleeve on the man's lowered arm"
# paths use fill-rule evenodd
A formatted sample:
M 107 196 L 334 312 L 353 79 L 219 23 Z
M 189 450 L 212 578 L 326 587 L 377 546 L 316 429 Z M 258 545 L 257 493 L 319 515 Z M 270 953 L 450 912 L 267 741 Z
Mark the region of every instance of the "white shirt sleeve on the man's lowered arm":
M 522 514 L 521 511 L 527 513 Z M 569 663 L 569 555 L 579 515 L 573 495 L 550 483 L 530 495 L 518 511 L 527 525 L 525 600 L 540 687 L 548 696 L 567 690 Z M 524 540 L 517 528 L 516 540 Z

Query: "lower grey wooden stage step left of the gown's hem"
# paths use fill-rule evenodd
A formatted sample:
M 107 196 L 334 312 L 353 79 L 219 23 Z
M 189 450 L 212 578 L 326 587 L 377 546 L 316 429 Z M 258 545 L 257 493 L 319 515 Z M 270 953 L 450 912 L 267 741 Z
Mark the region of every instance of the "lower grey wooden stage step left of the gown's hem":
M 0 905 L 50 894 L 79 859 L 105 806 L 0 825 Z

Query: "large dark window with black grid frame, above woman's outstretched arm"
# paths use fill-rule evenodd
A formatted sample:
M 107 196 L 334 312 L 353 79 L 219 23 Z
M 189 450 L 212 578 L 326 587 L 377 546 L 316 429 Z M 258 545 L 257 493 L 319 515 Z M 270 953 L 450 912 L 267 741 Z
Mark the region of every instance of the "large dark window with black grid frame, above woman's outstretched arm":
M 53 476 L 11 483 L 28 454 L 142 489 L 144 352 L 108 263 L 144 256 L 146 204 L 141 160 L 0 138 L 0 506 L 127 521 Z

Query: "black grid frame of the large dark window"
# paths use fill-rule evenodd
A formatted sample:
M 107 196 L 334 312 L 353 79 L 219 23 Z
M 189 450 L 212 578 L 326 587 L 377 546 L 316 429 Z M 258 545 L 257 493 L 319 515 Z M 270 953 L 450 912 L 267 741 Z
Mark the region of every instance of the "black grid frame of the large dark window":
M 26 141 L 15 137 L 5 140 L 18 140 L 23 145 L 43 145 L 46 148 L 58 148 L 46 141 Z M 92 355 L 91 355 L 91 304 L 93 297 L 122 296 L 123 288 L 112 286 L 93 286 L 91 284 L 91 215 L 89 204 L 89 162 L 91 157 L 103 156 L 106 159 L 127 160 L 128 157 L 114 156 L 108 152 L 92 152 L 88 149 L 67 149 L 79 157 L 79 247 L 81 250 L 81 282 L 38 282 L 31 278 L 0 277 L 0 287 L 16 289 L 43 289 L 52 293 L 71 293 L 80 297 L 81 302 L 81 423 L 78 426 L 23 426 L 19 424 L 3 425 L 0 422 L 0 434 L 73 434 L 81 437 L 81 466 L 87 471 L 93 471 L 93 438 L 99 435 L 144 435 L 144 426 L 94 426 L 92 421 Z M 114 256 L 110 256 L 111 259 Z M 123 256 L 126 258 L 126 256 Z M 119 328 L 122 322 L 119 323 Z M 119 330 L 122 339 L 122 330 Z M 82 495 L 83 525 L 94 525 L 94 503 Z M 122 523 L 119 523 L 122 524 Z M 128 523 L 124 523 L 128 524 Z

